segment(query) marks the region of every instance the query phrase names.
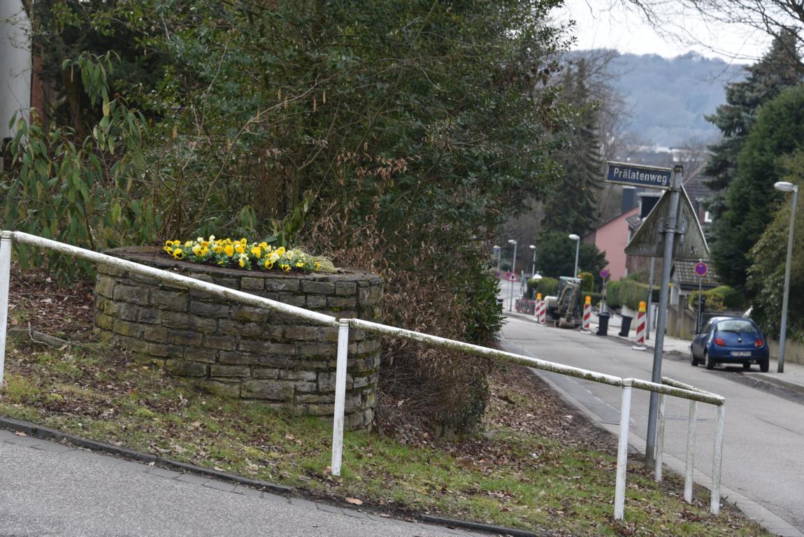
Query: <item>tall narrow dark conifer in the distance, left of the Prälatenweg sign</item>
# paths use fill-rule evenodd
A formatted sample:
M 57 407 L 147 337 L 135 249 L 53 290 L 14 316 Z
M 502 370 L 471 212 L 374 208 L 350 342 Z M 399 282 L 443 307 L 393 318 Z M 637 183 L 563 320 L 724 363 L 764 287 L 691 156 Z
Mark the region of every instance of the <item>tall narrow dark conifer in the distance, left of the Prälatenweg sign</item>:
M 575 107 L 573 131 L 558 160 L 564 178 L 556 183 L 544 207 L 544 228 L 548 231 L 584 235 L 597 218 L 597 193 L 603 185 L 601 141 L 598 134 L 598 103 L 589 92 L 585 59 L 564 73 L 562 88 Z

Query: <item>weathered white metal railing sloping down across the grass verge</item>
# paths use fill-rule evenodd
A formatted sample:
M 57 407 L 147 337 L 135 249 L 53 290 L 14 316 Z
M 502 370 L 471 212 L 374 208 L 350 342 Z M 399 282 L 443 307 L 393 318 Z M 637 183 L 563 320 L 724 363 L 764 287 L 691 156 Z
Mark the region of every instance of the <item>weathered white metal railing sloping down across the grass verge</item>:
M 335 403 L 332 427 L 332 457 L 331 469 L 335 476 L 340 475 L 343 462 L 343 414 L 346 401 L 347 385 L 347 354 L 349 348 L 349 329 L 367 330 L 376 334 L 408 339 L 415 342 L 425 343 L 430 346 L 437 346 L 445 349 L 459 350 L 470 355 L 487 356 L 500 359 L 508 363 L 517 363 L 527 367 L 543 371 L 552 371 L 561 375 L 568 375 L 580 379 L 587 379 L 597 383 L 609 384 L 610 386 L 621 387 L 621 408 L 620 408 L 620 430 L 617 442 L 617 477 L 614 489 L 614 518 L 622 519 L 625 514 L 626 501 L 626 467 L 628 461 L 628 435 L 630 426 L 630 407 L 631 391 L 638 388 L 646 391 L 655 391 L 660 394 L 659 408 L 659 444 L 657 445 L 656 476 L 657 481 L 661 480 L 662 457 L 661 449 L 663 445 L 664 432 L 664 397 L 674 396 L 690 400 L 691 403 L 691 434 L 695 435 L 695 412 L 693 406 L 700 403 L 713 404 L 718 408 L 716 420 L 716 432 L 714 443 L 714 455 L 712 458 L 712 502 L 710 510 L 713 514 L 720 511 L 720 463 L 723 451 L 723 417 L 725 399 L 708 391 L 688 386 L 687 384 L 677 383 L 671 379 L 662 379 L 662 383 L 652 383 L 646 380 L 621 378 L 614 375 L 606 375 L 597 371 L 588 371 L 580 367 L 565 366 L 560 363 L 548 362 L 545 360 L 530 358 L 523 355 L 516 355 L 498 349 L 472 345 L 466 342 L 459 342 L 453 339 L 439 338 L 430 334 L 422 334 L 413 330 L 405 330 L 393 326 L 379 324 L 377 322 L 363 321 L 363 319 L 336 319 L 329 315 L 318 314 L 308 309 L 287 305 L 282 302 L 273 301 L 268 298 L 257 297 L 249 293 L 228 289 L 221 285 L 195 280 L 181 274 L 171 273 L 170 271 L 159 268 L 148 267 L 133 261 L 122 260 L 117 257 L 107 256 L 102 253 L 92 252 L 84 248 L 77 248 L 69 244 L 60 243 L 55 240 L 44 239 L 43 237 L 30 235 L 23 232 L 0 232 L 0 386 L 2 386 L 3 369 L 6 355 L 6 325 L 8 320 L 8 293 L 10 279 L 11 244 L 29 244 L 39 248 L 48 248 L 55 252 L 61 252 L 70 256 L 80 257 L 94 263 L 107 264 L 110 266 L 123 268 L 131 273 L 142 274 L 160 281 L 165 281 L 174 285 L 180 285 L 188 289 L 197 289 L 206 293 L 211 293 L 218 297 L 223 297 L 231 301 L 240 302 L 247 305 L 254 305 L 260 308 L 267 308 L 277 313 L 287 314 L 292 317 L 304 318 L 311 322 L 316 322 L 325 326 L 338 326 L 338 354 L 337 369 L 335 372 Z M 694 441 L 692 442 L 694 444 Z M 692 453 L 688 448 L 687 465 L 691 468 Z M 691 502 L 691 469 L 688 469 L 689 485 L 685 482 L 684 498 Z M 690 494 L 687 495 L 687 487 Z

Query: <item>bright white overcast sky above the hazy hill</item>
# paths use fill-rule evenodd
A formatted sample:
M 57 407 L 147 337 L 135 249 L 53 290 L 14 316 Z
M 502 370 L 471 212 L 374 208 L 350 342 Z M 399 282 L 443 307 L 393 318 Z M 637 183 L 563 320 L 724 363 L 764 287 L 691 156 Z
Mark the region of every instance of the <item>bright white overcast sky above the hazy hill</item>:
M 681 43 L 671 37 L 658 35 L 642 21 L 634 8 L 602 0 L 565 0 L 562 20 L 576 21 L 576 44 L 573 48 L 615 48 L 634 54 L 658 54 L 667 58 L 695 51 L 708 57 L 720 57 L 737 63 L 753 63 L 769 47 L 769 39 L 748 27 L 718 27 L 706 24 L 699 14 L 679 15 L 666 22 L 667 31 L 682 35 Z M 606 6 L 602 9 L 600 6 Z M 686 35 L 685 35 L 686 34 Z M 695 39 L 707 46 L 692 43 Z M 714 49 L 714 50 L 712 50 Z

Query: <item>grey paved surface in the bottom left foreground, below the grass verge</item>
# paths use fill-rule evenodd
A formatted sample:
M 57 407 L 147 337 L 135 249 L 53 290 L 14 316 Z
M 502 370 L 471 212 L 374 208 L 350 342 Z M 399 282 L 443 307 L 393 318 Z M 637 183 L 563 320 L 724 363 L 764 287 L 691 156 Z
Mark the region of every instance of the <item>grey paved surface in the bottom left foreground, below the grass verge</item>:
M 381 514 L 288 498 L 0 429 L 2 535 L 480 535 Z

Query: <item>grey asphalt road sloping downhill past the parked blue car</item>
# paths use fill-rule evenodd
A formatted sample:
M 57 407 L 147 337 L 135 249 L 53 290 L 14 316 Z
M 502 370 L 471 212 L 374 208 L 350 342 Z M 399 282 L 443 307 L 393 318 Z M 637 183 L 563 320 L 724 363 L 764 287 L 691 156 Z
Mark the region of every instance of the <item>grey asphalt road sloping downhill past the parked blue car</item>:
M 503 337 L 507 350 L 524 355 L 621 377 L 646 380 L 651 377 L 652 352 L 633 350 L 631 343 L 613 338 L 535 326 L 514 317 L 508 318 L 503 327 Z M 619 388 L 562 375 L 543 375 L 599 423 L 616 430 Z M 752 382 L 751 373 L 744 374 L 740 367 L 716 371 L 691 367 L 682 355 L 666 355 L 662 375 L 713 391 L 727 400 L 722 466 L 724 501 L 737 501 L 749 516 L 757 517 L 765 527 L 780 535 L 804 535 L 801 533 L 804 531 L 804 397 Z M 642 451 L 648 400 L 645 391 L 634 390 L 631 430 L 642 444 L 635 443 L 634 437 L 631 442 Z M 683 461 L 689 403 L 668 398 L 666 412 L 665 452 Z M 696 481 L 700 480 L 704 486 L 708 486 L 712 472 L 714 420 L 715 409 L 699 404 L 695 468 L 699 470 Z M 741 504 L 746 498 L 749 501 Z M 754 509 L 752 501 L 760 508 Z

